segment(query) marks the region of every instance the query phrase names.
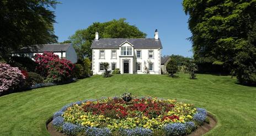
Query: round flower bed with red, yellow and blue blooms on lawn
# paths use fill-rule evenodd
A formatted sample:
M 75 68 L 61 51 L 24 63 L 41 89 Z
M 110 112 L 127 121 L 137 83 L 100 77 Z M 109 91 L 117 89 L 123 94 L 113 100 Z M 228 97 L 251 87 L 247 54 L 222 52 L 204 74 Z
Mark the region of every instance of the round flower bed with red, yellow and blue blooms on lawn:
M 176 100 L 109 97 L 64 106 L 52 124 L 67 135 L 186 135 L 206 121 L 205 109 Z

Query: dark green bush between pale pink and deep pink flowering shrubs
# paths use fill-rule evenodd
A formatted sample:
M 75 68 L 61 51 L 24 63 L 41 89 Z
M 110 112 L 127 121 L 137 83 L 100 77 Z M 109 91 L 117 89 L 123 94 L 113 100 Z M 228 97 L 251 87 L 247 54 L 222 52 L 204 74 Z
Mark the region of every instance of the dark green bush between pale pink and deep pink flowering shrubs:
M 28 72 L 23 88 L 27 89 L 35 84 L 43 83 L 44 78 L 40 74 L 34 72 Z

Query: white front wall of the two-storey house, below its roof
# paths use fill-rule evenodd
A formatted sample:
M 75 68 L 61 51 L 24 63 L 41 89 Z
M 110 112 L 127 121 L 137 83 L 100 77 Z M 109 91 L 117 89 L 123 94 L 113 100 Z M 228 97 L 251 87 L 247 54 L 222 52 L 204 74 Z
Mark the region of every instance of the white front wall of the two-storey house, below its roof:
M 129 43 L 124 43 L 124 45 L 121 46 L 131 46 Z M 150 71 L 150 74 L 161 74 L 161 49 L 134 49 L 132 47 L 132 55 L 131 56 L 121 56 L 121 47 L 113 48 L 113 49 L 102 49 L 105 51 L 105 56 L 103 59 L 99 58 L 99 49 L 93 49 L 93 56 L 92 56 L 92 70 L 93 74 L 102 74 L 103 71 L 99 70 L 99 64 L 102 62 L 108 62 L 110 67 L 109 70 L 111 70 L 111 63 L 116 63 L 116 68 L 119 68 L 121 73 L 124 72 L 123 70 L 123 61 L 129 60 L 129 73 L 130 74 L 145 74 L 145 71 L 143 70 L 146 67 L 148 67 L 148 62 L 153 63 L 153 70 Z M 116 59 L 111 58 L 111 50 L 116 50 Z M 141 58 L 136 58 L 136 50 L 141 50 Z M 148 50 L 153 51 L 153 58 L 148 58 Z M 141 71 L 136 72 L 136 62 L 141 63 Z M 146 64 L 145 64 L 146 63 Z

